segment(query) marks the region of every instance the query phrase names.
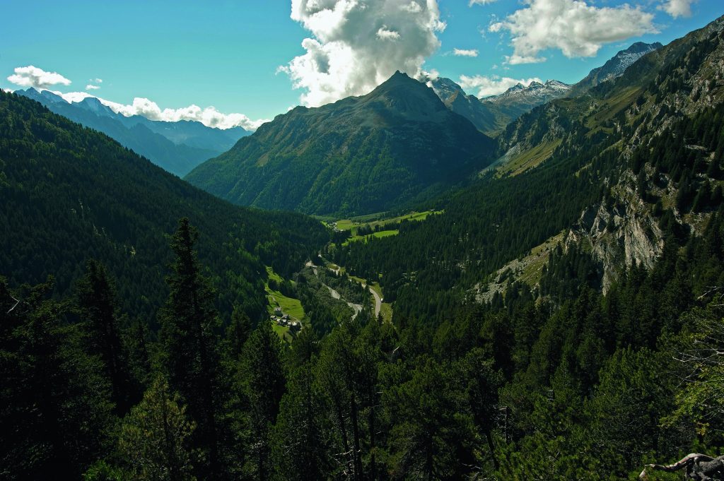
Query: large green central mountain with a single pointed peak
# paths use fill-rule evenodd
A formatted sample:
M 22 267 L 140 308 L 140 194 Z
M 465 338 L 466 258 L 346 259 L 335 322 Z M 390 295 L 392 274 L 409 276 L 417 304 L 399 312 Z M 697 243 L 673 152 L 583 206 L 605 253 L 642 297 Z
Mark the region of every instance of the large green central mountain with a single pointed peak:
M 277 116 L 186 179 L 241 205 L 361 214 L 463 182 L 494 148 L 426 85 L 397 72 L 367 95 Z

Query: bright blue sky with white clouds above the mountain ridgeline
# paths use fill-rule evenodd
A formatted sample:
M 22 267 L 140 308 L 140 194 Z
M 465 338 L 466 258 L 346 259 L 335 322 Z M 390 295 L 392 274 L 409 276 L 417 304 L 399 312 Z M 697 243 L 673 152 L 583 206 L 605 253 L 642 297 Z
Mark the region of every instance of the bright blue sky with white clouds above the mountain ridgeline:
M 363 95 L 399 69 L 467 93 L 574 83 L 636 41 L 669 43 L 723 0 L 0 0 L 0 88 L 255 129 Z

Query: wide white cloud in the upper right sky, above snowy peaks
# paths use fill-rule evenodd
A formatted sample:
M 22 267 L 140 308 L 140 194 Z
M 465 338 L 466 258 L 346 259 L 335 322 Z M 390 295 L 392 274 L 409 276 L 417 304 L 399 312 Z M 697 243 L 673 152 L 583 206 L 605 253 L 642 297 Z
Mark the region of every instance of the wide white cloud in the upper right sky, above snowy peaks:
M 598 8 L 583 0 L 523 1 L 526 7 L 488 27 L 490 32 L 510 32 L 509 64 L 544 61 L 539 53 L 547 48 L 558 48 L 568 58 L 594 56 L 604 43 L 657 33 L 654 14 L 628 4 Z

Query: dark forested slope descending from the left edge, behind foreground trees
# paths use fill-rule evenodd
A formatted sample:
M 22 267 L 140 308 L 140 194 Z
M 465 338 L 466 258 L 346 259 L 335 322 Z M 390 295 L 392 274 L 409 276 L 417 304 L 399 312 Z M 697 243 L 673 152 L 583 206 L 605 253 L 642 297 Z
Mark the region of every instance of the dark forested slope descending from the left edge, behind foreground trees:
M 13 283 L 54 275 L 66 293 L 93 257 L 118 278 L 125 311 L 152 319 L 167 292 L 168 236 L 188 217 L 222 312 L 239 305 L 256 320 L 264 265 L 291 273 L 327 239 L 310 218 L 235 207 L 35 101 L 1 95 L 0 274 Z

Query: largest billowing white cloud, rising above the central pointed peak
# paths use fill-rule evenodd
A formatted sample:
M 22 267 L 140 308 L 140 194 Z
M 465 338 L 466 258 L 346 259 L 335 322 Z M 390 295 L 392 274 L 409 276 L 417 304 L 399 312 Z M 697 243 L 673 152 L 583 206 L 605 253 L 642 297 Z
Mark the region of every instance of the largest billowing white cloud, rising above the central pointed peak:
M 311 38 L 279 72 L 307 106 L 368 93 L 395 70 L 418 77 L 445 30 L 437 0 L 292 0 L 291 17 Z

